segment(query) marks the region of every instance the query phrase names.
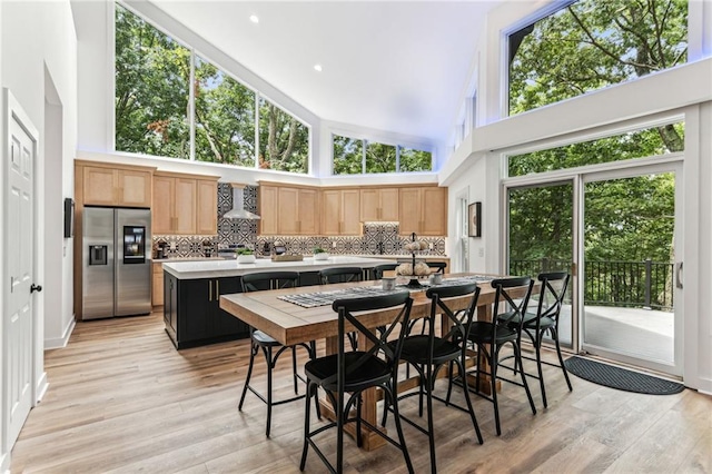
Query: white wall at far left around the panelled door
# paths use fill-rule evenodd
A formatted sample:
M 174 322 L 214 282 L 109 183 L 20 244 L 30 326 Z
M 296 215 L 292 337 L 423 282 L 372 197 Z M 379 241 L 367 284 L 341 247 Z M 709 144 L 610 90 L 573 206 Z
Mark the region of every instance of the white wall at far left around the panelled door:
M 47 259 L 47 248 L 60 249 L 62 229 L 56 227 L 56 208 L 46 209 L 46 189 L 56 196 L 73 194 L 72 161 L 77 146 L 77 62 L 76 37 L 69 1 L 2 2 L 0 37 L 2 62 L 1 85 L 7 87 L 38 128 L 40 146 L 36 168 L 36 201 L 38 259 L 36 282 L 51 288 L 50 298 L 43 292 L 36 298 L 40 323 L 37 332 L 38 354 L 36 354 L 36 391 L 40 397 L 46 389 L 43 381 L 44 338 L 61 338 L 68 334 L 73 317 L 71 314 L 72 288 L 55 279 L 56 276 L 71 282 L 71 251 L 60 258 Z M 46 72 L 47 71 L 47 72 Z M 53 81 L 55 100 L 62 103 L 61 128 L 46 129 L 46 73 Z M 50 88 L 49 90 L 51 90 Z M 55 118 L 57 120 L 57 118 Z M 50 120 L 50 124 L 53 121 Z M 61 134 L 60 150 L 48 151 L 44 142 L 51 134 Z M 3 147 L 6 145 L 3 144 Z M 52 158 L 47 164 L 47 156 Z M 51 171 L 44 179 L 46 171 Z M 0 184 L 0 196 L 4 196 L 4 181 Z M 46 247 L 49 240 L 50 246 Z M 55 243 L 55 245 L 52 245 Z M 3 250 L 4 251 L 4 250 Z M 51 280 L 44 280 L 51 275 Z M 51 306 L 50 306 L 51 304 Z

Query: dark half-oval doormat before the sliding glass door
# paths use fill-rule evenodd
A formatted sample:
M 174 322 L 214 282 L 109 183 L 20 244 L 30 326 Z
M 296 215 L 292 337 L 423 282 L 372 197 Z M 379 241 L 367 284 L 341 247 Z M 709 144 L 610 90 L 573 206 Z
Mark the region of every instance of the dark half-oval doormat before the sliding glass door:
M 594 384 L 649 395 L 672 395 L 684 389 L 684 385 L 664 378 L 626 371 L 613 365 L 601 364 L 583 357 L 573 356 L 564 362 L 572 374 Z

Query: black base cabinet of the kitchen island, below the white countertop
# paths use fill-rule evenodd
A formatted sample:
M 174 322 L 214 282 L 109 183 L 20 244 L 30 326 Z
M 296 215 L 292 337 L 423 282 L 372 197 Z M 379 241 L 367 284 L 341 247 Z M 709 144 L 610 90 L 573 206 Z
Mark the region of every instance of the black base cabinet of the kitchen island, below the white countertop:
M 220 309 L 220 295 L 240 292 L 239 277 L 178 279 L 165 273 L 164 322 L 179 348 L 249 337 L 249 326 Z

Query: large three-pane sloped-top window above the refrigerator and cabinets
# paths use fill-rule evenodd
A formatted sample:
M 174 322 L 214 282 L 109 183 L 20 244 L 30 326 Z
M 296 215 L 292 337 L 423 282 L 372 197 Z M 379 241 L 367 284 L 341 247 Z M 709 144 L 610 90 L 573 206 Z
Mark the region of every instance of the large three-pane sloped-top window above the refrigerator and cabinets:
M 309 128 L 117 4 L 116 149 L 305 174 Z

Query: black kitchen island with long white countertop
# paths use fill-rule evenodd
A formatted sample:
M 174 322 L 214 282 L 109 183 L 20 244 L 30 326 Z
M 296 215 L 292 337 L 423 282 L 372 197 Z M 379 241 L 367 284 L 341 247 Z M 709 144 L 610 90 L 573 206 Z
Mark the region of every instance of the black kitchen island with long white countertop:
M 181 260 L 164 263 L 164 322 L 176 348 L 196 347 L 249 337 L 249 326 L 220 309 L 220 295 L 240 293 L 240 277 L 259 271 L 298 271 L 303 286 L 318 284 L 317 273 L 332 267 L 360 267 L 368 270 L 388 260 L 335 255 L 326 260 L 307 257 L 301 261 L 273 261 L 258 258 L 254 264 L 237 260 Z

